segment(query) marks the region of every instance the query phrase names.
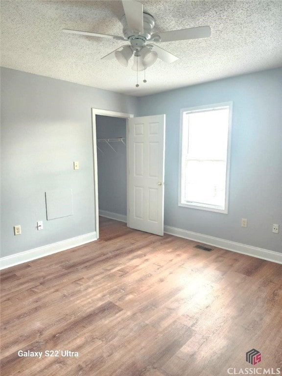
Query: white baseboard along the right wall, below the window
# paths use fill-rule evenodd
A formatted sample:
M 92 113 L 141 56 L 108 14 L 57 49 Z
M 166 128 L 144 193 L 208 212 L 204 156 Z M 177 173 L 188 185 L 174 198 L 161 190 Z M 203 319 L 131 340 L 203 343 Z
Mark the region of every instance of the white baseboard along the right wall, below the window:
M 263 248 L 253 247 L 251 245 L 236 243 L 234 241 L 220 239 L 209 235 L 193 233 L 187 230 L 177 229 L 175 227 L 164 226 L 166 234 L 184 237 L 185 239 L 198 241 L 200 243 L 209 244 L 214 247 L 223 248 L 228 251 L 242 253 L 252 257 L 262 258 L 264 260 L 277 262 L 282 264 L 282 253 L 269 251 Z

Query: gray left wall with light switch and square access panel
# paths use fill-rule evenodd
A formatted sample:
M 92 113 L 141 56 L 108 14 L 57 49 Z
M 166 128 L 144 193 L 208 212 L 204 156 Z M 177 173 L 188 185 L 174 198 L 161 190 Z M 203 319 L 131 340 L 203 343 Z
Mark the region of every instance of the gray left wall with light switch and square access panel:
M 1 257 L 95 231 L 91 108 L 135 113 L 136 103 L 126 95 L 1 69 Z M 73 215 L 47 221 L 45 192 L 67 188 Z M 14 235 L 15 225 L 22 235 Z

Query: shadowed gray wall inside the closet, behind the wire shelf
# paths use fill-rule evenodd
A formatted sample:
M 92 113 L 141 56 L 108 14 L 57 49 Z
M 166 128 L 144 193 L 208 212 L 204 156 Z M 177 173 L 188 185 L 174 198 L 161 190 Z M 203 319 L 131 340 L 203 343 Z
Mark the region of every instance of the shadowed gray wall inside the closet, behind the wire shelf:
M 126 119 L 96 115 L 97 139 L 126 139 Z M 126 141 L 124 141 L 126 143 Z M 126 215 L 126 145 L 97 143 L 99 209 Z

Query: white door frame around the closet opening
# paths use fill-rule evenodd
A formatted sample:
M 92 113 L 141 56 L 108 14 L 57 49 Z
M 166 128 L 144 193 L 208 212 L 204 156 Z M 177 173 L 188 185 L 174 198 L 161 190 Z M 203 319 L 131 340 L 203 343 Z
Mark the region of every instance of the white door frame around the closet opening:
M 129 132 L 129 118 L 134 118 L 133 114 L 125 114 L 123 112 L 102 110 L 99 108 L 91 109 L 92 117 L 92 140 L 93 140 L 93 166 L 94 166 L 94 216 L 95 216 L 95 232 L 97 239 L 99 238 L 99 197 L 98 197 L 98 164 L 97 164 L 97 138 L 96 138 L 96 115 L 110 116 L 113 118 L 125 118 L 126 119 L 126 138 L 128 140 Z M 128 142 L 126 142 L 126 175 L 127 175 L 127 192 L 128 192 Z M 128 204 L 128 196 L 127 196 Z M 128 205 L 127 205 L 127 217 L 128 217 Z

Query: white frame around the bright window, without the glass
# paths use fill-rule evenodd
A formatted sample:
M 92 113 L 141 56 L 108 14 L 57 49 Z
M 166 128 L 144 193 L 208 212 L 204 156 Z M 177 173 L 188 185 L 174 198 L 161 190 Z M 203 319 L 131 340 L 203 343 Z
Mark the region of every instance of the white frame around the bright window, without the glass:
M 226 161 L 226 185 L 225 185 L 225 205 L 224 208 L 221 209 L 214 205 L 209 204 L 200 204 L 197 202 L 191 202 L 189 204 L 182 202 L 182 164 L 183 164 L 183 118 L 184 114 L 187 112 L 201 112 L 201 111 L 209 111 L 213 109 L 223 107 L 229 107 L 229 124 L 228 124 L 228 140 L 227 140 L 227 161 Z M 189 107 L 189 108 L 182 108 L 180 110 L 180 141 L 179 141 L 179 195 L 178 195 L 178 206 L 191 208 L 191 209 L 199 209 L 199 210 L 206 210 L 206 211 L 215 211 L 223 214 L 228 214 L 228 202 L 229 202 L 229 178 L 230 178 L 230 156 L 231 156 L 231 128 L 232 128 L 232 108 L 233 102 L 223 102 L 223 103 L 214 103 L 208 104 L 204 106 L 197 106 L 197 107 Z

